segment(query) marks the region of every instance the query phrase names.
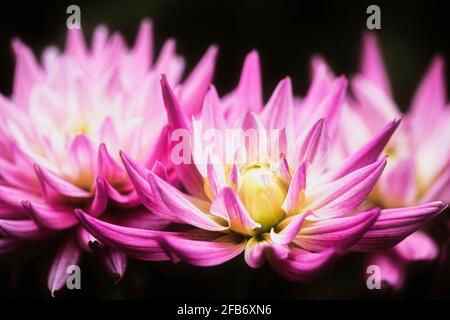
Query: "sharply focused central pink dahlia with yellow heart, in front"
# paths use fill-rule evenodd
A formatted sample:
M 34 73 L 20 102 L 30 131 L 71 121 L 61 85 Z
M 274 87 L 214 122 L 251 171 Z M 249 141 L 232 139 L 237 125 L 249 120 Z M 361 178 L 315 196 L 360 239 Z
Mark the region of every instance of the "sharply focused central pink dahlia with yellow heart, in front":
M 220 99 L 211 86 L 201 114 L 191 121 L 163 76 L 170 159 L 180 188 L 167 182 L 163 164 L 148 170 L 126 153 L 121 156 L 142 203 L 172 227 L 150 231 L 117 226 L 76 210 L 79 221 L 102 243 L 143 260 L 213 266 L 244 252 L 250 267 L 267 260 L 293 281 L 311 279 L 348 250 L 397 244 L 445 204 L 387 210 L 383 216 L 379 208 L 361 210 L 386 165 L 386 158 L 378 157 L 397 121 L 339 168 L 328 169 L 327 123 L 336 121 L 345 79 L 325 86 L 329 74 L 319 69 L 301 107 L 311 116 L 302 121 L 294 118 L 300 111 L 294 107 L 289 78 L 263 107 L 256 52 L 247 57 L 236 90 Z M 322 118 L 312 120 L 312 114 Z M 230 131 L 235 140 L 222 143 Z M 272 131 L 277 134 L 268 139 L 265 133 Z

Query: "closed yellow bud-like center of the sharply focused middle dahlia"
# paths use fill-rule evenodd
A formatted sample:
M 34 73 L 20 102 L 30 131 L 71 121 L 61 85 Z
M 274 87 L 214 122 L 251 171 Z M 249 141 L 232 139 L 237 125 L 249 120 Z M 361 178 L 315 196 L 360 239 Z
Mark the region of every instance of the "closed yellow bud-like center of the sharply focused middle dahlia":
M 269 231 L 284 216 L 281 208 L 287 188 L 272 170 L 256 164 L 247 167 L 239 181 L 239 196 L 254 221 L 261 224 L 261 231 Z

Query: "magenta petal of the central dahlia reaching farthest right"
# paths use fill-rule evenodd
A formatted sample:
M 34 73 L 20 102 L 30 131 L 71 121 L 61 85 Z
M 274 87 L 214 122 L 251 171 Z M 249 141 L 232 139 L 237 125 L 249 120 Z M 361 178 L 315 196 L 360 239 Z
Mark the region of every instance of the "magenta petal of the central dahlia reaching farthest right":
M 352 249 L 372 251 L 392 247 L 446 207 L 444 202 L 435 201 L 407 208 L 383 209 L 377 221 Z

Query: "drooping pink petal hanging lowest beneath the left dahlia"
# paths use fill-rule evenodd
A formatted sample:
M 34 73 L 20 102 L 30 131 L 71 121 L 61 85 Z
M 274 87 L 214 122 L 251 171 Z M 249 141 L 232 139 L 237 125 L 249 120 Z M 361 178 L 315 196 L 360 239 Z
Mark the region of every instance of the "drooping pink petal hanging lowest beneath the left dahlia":
M 59 248 L 47 280 L 48 288 L 53 297 L 55 296 L 55 291 L 60 290 L 66 285 L 67 278 L 69 277 L 67 268 L 71 265 L 76 265 L 80 256 L 80 247 L 72 237 Z

